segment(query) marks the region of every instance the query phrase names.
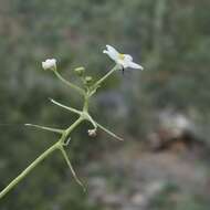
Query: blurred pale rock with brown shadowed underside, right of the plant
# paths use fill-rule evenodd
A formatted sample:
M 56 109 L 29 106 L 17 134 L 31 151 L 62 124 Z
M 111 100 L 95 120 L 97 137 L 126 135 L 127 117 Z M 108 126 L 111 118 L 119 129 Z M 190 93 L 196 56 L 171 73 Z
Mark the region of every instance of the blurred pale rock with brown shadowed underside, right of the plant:
M 157 115 L 157 126 L 148 135 L 148 144 L 153 150 L 176 147 L 183 150 L 196 139 L 196 126 L 190 118 L 170 109 L 161 111 Z

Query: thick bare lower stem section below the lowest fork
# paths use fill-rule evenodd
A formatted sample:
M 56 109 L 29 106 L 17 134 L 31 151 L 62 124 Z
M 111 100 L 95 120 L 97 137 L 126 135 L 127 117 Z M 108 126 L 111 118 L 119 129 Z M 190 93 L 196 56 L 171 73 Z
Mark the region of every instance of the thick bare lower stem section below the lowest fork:
M 41 156 L 39 156 L 28 168 L 25 168 L 13 181 L 11 181 L 1 192 L 0 199 L 3 198 L 12 188 L 14 188 L 31 170 L 35 168 L 43 159 L 45 159 L 50 154 L 60 148 L 60 143 L 54 144 L 48 150 L 45 150 Z

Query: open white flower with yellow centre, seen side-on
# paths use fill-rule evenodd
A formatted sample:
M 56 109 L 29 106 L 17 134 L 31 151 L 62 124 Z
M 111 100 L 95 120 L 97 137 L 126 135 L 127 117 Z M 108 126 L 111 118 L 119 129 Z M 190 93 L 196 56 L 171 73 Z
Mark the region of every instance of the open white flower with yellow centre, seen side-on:
M 134 63 L 133 57 L 129 54 L 122 54 L 117 52 L 113 46 L 106 45 L 107 50 L 104 50 L 103 53 L 107 54 L 112 60 L 123 67 L 132 67 L 143 70 L 143 66 Z

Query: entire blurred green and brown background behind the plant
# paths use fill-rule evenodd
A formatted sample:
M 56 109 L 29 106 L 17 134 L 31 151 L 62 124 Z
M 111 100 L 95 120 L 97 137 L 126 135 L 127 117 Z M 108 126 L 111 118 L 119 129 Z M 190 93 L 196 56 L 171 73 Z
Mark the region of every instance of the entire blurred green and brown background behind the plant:
M 82 99 L 43 71 L 75 81 L 85 66 L 94 78 L 114 63 L 105 44 L 129 53 L 145 71 L 109 78 L 93 99 L 97 120 L 125 138 L 90 125 L 73 133 L 67 154 L 87 192 L 60 153 L 36 167 L 0 201 L 1 210 L 208 210 L 210 206 L 209 0 L 1 0 L 0 188 L 57 136 L 24 123 L 65 127 L 74 115 L 52 97 L 80 107 Z

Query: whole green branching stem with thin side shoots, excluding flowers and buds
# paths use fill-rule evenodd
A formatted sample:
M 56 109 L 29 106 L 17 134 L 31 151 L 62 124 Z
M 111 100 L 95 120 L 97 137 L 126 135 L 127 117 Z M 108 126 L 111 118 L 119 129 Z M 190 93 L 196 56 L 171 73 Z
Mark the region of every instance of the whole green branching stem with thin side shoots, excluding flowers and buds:
M 55 73 L 55 75 L 59 77 L 59 80 L 61 80 L 63 83 L 65 83 L 67 86 L 70 86 L 71 88 L 75 90 L 77 93 L 80 93 L 81 95 L 84 96 L 84 104 L 83 104 L 83 111 L 77 111 L 75 108 L 65 106 L 54 99 L 51 99 L 51 102 L 62 108 L 65 108 L 72 113 L 78 114 L 80 117 L 66 129 L 56 129 L 56 128 L 51 128 L 51 127 L 46 127 L 46 126 L 40 126 L 40 125 L 33 125 L 33 124 L 25 124 L 27 126 L 32 126 L 39 129 L 44 129 L 44 130 L 49 130 L 49 132 L 54 132 L 54 133 L 59 133 L 61 135 L 60 139 L 52 145 L 49 149 L 46 149 L 43 154 L 41 154 L 29 167 L 27 167 L 15 179 L 13 179 L 1 192 L 0 192 L 0 199 L 2 199 L 10 190 L 12 190 L 22 179 L 24 179 L 29 172 L 31 172 L 39 164 L 41 164 L 48 156 L 50 156 L 54 150 L 59 149 L 67 166 L 70 167 L 72 175 L 74 177 L 74 179 L 76 180 L 76 182 L 83 187 L 83 189 L 85 190 L 82 181 L 77 178 L 71 161 L 67 157 L 66 151 L 64 150 L 64 146 L 66 146 L 69 144 L 69 139 L 70 139 L 70 134 L 83 122 L 83 120 L 88 120 L 94 128 L 96 129 L 97 126 L 99 128 L 102 128 L 103 130 L 105 130 L 107 134 L 112 135 L 113 137 L 117 138 L 118 140 L 122 140 L 120 137 L 116 136 L 115 134 L 113 134 L 112 132 L 109 132 L 108 129 L 106 129 L 104 126 L 99 125 L 98 123 L 96 123 L 92 116 L 88 114 L 88 103 L 90 103 L 90 98 L 91 96 L 96 92 L 96 90 L 101 86 L 101 84 L 108 77 L 111 76 L 115 71 L 119 70 L 119 66 L 116 65 L 114 66 L 106 75 L 104 75 L 101 80 L 98 80 L 95 84 L 93 84 L 91 87 L 87 88 L 87 91 L 85 92 L 83 88 L 72 84 L 71 82 L 66 81 L 65 78 L 63 78 L 61 76 L 61 74 L 55 70 L 53 70 L 53 72 Z M 90 90 L 92 90 L 90 92 Z M 67 140 L 67 143 L 65 143 Z

